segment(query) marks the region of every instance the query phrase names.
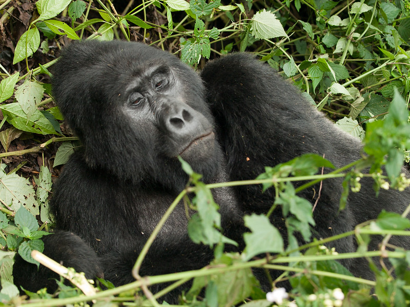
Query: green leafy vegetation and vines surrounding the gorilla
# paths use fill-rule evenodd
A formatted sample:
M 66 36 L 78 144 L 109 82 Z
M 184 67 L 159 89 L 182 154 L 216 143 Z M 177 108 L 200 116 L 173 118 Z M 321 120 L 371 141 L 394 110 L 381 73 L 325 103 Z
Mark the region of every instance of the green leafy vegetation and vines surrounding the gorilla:
M 35 5 L 34 5 L 35 4 Z M 360 193 L 360 178 L 373 177 L 376 190 L 403 189 L 408 179 L 400 175 L 403 160 L 410 155 L 410 2 L 408 0 L 245 0 L 240 3 L 220 0 L 39 0 L 12 2 L 0 0 L 0 141 L 3 164 L 0 170 L 0 300 L 6 305 L 57 306 L 64 304 L 158 305 L 165 292 L 150 295 L 147 284 L 194 279 L 191 290 L 181 293 L 181 304 L 200 306 L 239 305 L 269 306 L 405 306 L 410 301 L 409 251 L 387 251 L 389 236 L 410 235 L 410 221 L 403 214 L 382 212 L 376 221 L 358 225 L 355 231 L 298 246 L 295 233 L 310 240 L 314 225 L 312 205 L 297 192 L 313 182 L 343 177 L 343 209 L 348 193 Z M 271 225 L 267 216 L 247 216 L 250 233 L 242 254 L 222 253 L 229 242 L 219 232 L 219 213 L 210 189 L 226 183 L 204 185 L 200 175 L 182 162 L 191 176 L 186 190 L 197 197 L 191 204 L 198 211 L 192 217 L 189 234 L 194 242 L 208 244 L 215 250 L 215 260 L 203 270 L 181 272 L 142 279 L 138 268 L 144 259 L 155 231 L 134 267 L 137 280 L 85 297 L 78 289 L 60 284 L 55 296 L 45 291 L 18 297 L 11 268 L 18 252 L 37 263 L 32 250 L 43 250 L 40 238 L 52 228 L 48 199 L 52 179 L 60 165 L 78 146 L 76 138 L 53 104 L 48 69 L 57 60 L 58 49 L 71 39 L 141 40 L 168 50 L 194 67 L 206 59 L 232 51 L 248 51 L 259 56 L 292 79 L 305 97 L 333 119 L 340 128 L 364 141 L 368 156 L 336 169 L 317 174 L 329 161 L 314 155 L 296 158 L 281 165 L 269 165 L 258 179 L 246 184 L 274 188 L 275 199 L 269 214 L 281 206 L 288 227 L 288 246 Z M 300 110 L 303 112 L 303 110 Z M 318 126 L 318 129 L 321 127 Z M 58 150 L 57 150 L 57 144 Z M 381 174 L 384 166 L 386 176 Z M 363 173 L 371 167 L 371 173 Z M 309 180 L 297 189 L 292 182 Z M 158 231 L 166 221 L 165 215 Z M 383 235 L 378 251 L 367 251 L 369 235 Z M 337 254 L 333 240 L 356 236 L 356 253 Z M 275 238 L 273 240 L 272 238 Z M 261 253 L 274 256 L 255 258 Z M 364 256 L 375 271 L 375 281 L 353 277 L 337 259 Z M 371 257 L 388 258 L 392 272 L 376 268 Z M 291 264 L 285 266 L 283 264 Z M 283 271 L 293 290 L 275 289 L 268 295 L 258 289 L 251 268 Z M 70 273 L 71 274 L 71 273 Z M 75 278 L 74 278 L 75 279 Z M 204 292 L 201 289 L 206 287 Z M 81 288 L 83 289 L 83 288 Z M 370 294 L 374 293 L 374 296 Z M 55 297 L 55 298 L 52 298 Z M 148 299 L 147 299 L 148 297 Z M 36 298 L 42 298 L 37 301 Z

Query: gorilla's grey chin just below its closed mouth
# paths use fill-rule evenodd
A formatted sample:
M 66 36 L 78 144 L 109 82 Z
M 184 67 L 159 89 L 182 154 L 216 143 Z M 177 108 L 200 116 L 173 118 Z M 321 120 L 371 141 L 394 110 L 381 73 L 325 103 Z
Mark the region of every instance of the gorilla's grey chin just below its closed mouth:
M 215 148 L 215 134 L 211 133 L 193 140 L 179 154 L 188 163 L 208 160 L 212 157 Z

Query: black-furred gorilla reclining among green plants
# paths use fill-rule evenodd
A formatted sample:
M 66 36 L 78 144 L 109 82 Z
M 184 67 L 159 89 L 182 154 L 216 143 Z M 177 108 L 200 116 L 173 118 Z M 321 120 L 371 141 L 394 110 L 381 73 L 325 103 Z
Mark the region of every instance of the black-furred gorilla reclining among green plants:
M 255 179 L 265 166 L 303 153 L 324 155 L 336 167 L 361 158 L 360 141 L 246 53 L 210 61 L 198 76 L 177 57 L 142 43 L 77 41 L 55 64 L 52 87 L 83 148 L 70 157 L 54 187 L 57 230 L 44 238 L 44 253 L 88 278 L 104 274 L 115 286 L 134 280 L 131 268 L 139 252 L 187 184 L 178 156 L 203 175 L 204 183 Z M 376 197 L 370 179 L 361 183 L 361 191 L 351 193 L 339 212 L 341 179 L 323 182 L 314 211 L 316 237 L 350 231 L 382 209 L 401 213 L 408 205 L 408 190 L 380 191 Z M 318 190 L 314 186 L 300 195 L 314 202 Z M 213 196 L 224 234 L 240 243 L 246 231 L 242 216 L 266 213 L 275 191 L 224 187 Z M 283 223 L 280 210 L 271 221 Z M 187 225 L 181 202 L 150 248 L 141 276 L 209 264 L 213 252 L 190 240 Z M 408 240 L 392 238 L 391 243 L 410 246 Z M 334 244 L 339 253 L 357 248 L 353 236 Z M 369 248 L 377 244 L 374 240 Z M 239 244 L 237 250 L 242 248 Z M 16 284 L 30 291 L 55 289 L 47 268 L 23 262 L 16 259 Z M 357 276 L 374 278 L 362 259 L 343 265 Z M 169 302 L 175 301 L 173 295 Z

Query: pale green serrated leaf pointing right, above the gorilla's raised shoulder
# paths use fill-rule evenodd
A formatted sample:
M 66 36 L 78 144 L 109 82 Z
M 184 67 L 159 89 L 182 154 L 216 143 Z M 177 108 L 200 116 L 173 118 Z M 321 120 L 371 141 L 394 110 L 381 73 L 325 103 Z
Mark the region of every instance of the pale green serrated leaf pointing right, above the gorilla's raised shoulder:
M 275 14 L 267 12 L 265 9 L 257 12 L 252 17 L 252 35 L 259 39 L 270 39 L 275 37 L 288 37 L 280 21 Z

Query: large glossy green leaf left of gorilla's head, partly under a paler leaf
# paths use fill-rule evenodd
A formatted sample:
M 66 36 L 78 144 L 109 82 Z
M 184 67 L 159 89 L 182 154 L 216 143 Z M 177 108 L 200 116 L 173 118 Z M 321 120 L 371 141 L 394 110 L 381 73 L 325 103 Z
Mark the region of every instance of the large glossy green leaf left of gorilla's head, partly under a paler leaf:
M 26 113 L 17 102 L 2 105 L 0 109 L 4 115 L 7 115 L 7 122 L 19 130 L 42 135 L 57 134 L 52 124 L 38 109 L 35 109 L 28 120 Z

